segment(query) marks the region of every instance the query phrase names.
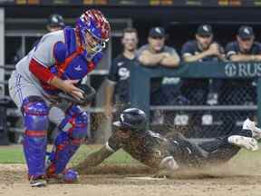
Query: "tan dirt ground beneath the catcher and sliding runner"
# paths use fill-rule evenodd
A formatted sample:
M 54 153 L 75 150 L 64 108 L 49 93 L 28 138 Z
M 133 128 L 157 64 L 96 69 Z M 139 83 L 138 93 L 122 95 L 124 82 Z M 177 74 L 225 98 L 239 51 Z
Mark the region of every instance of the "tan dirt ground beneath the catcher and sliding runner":
M 82 174 L 80 181 L 75 184 L 30 188 L 25 181 L 23 164 L 1 164 L 0 196 L 260 196 L 259 163 L 244 164 L 242 168 L 235 165 L 238 164 L 233 162 L 209 171 L 179 173 L 169 180 L 144 180 L 141 176 L 150 176 L 150 170 L 145 167 L 103 165 L 90 173 Z

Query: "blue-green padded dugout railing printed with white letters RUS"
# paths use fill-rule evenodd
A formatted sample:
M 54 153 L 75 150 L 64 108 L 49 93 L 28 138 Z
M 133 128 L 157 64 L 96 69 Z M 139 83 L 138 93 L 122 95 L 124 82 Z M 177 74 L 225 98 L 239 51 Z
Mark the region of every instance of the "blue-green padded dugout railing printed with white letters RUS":
M 221 118 L 226 116 L 228 123 L 237 123 L 234 120 L 229 119 L 228 115 L 238 115 L 238 113 L 255 113 L 258 122 L 261 122 L 261 63 L 189 63 L 180 64 L 178 68 L 164 68 L 157 66 L 155 68 L 148 68 L 138 63 L 133 64 L 131 68 L 131 91 L 130 100 L 131 106 L 138 107 L 148 113 L 155 111 L 182 111 L 189 113 L 191 111 L 202 113 L 212 112 L 218 113 Z M 220 104 L 220 105 L 208 105 L 208 104 L 194 104 L 194 105 L 150 105 L 150 88 L 151 79 L 159 77 L 177 77 L 181 79 L 196 79 L 196 78 L 208 78 L 208 79 L 220 79 L 220 80 L 234 80 L 234 79 L 251 79 L 255 78 L 256 82 L 256 102 L 251 104 L 234 103 L 234 104 Z M 240 80 L 239 80 L 240 81 Z M 247 90 L 247 89 L 246 89 Z M 170 90 L 169 90 L 170 91 Z M 232 93 L 232 92 L 231 92 Z M 245 96 L 244 93 L 242 93 Z M 222 111 L 222 113 L 221 113 Z M 237 113 L 236 113 L 237 111 Z M 230 114 L 229 114 L 230 113 Z M 240 114 L 239 114 L 240 115 Z M 233 122 L 235 121 L 235 122 Z M 217 123 L 218 124 L 218 123 Z M 238 124 L 237 124 L 238 125 Z M 209 128 L 209 126 L 208 126 Z M 196 134 L 197 135 L 197 134 Z

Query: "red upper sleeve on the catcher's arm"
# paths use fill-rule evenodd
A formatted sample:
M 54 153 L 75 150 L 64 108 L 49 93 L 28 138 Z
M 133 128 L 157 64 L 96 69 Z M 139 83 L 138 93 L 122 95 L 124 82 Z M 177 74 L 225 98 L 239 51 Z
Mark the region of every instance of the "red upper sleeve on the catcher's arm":
M 53 73 L 50 72 L 49 69 L 45 68 L 43 64 L 39 64 L 32 58 L 30 64 L 29 64 L 29 70 L 34 74 L 36 78 L 39 80 L 47 83 L 53 79 L 55 76 Z

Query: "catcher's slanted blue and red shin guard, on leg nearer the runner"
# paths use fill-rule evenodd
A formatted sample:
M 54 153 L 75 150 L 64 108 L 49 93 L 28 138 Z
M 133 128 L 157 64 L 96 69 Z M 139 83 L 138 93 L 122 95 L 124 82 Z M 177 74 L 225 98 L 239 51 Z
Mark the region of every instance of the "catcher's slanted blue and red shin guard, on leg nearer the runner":
M 46 171 L 48 177 L 64 171 L 87 135 L 87 123 L 87 113 L 73 105 L 59 126 L 61 133 L 55 139 L 53 151 L 50 153 L 50 165 Z

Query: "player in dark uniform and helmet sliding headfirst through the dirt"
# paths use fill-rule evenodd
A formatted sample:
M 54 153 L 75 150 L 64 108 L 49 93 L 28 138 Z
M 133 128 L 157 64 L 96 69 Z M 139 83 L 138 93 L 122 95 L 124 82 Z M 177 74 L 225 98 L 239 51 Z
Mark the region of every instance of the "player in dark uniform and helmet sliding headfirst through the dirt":
M 123 149 L 134 159 L 159 171 L 173 171 L 182 167 L 202 167 L 209 162 L 227 162 L 241 147 L 256 151 L 256 138 L 261 130 L 247 119 L 240 132 L 224 137 L 192 142 L 181 134 L 163 137 L 160 133 L 146 129 L 146 114 L 137 108 L 126 109 L 120 120 L 113 122 L 114 132 L 108 142 L 98 152 L 90 154 L 76 169 L 86 170 L 100 164 L 112 153 Z

